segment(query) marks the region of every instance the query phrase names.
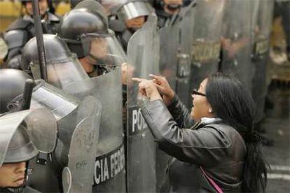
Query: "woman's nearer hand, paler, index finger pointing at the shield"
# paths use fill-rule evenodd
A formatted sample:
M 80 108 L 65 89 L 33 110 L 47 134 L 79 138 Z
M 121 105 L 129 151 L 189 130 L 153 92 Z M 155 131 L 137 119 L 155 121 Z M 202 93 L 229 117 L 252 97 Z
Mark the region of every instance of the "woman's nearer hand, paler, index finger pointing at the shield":
M 147 96 L 150 101 L 161 99 L 156 83 L 153 80 L 146 80 L 143 78 L 132 78 L 133 81 L 139 83 L 139 94 Z

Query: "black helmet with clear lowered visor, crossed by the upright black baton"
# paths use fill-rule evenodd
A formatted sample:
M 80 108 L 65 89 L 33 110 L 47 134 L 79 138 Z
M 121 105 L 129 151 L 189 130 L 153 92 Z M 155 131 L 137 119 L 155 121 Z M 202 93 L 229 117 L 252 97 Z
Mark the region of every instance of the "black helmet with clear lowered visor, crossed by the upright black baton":
M 76 55 L 71 53 L 62 38 L 53 34 L 43 34 L 43 44 L 48 83 L 62 89 L 74 81 L 88 78 Z M 34 79 L 41 78 L 36 37 L 30 39 L 22 50 L 21 68 L 31 71 Z

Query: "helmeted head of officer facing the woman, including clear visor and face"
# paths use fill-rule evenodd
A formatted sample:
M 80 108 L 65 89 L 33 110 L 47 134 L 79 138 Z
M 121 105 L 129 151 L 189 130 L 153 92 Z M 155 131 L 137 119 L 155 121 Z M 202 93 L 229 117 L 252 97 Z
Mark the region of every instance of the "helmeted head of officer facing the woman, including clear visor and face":
M 108 29 L 104 7 L 97 1 L 81 1 L 64 15 L 60 37 L 71 52 L 76 53 L 90 77 L 110 71 L 116 59 L 123 57 L 119 57 L 123 54 L 118 53 L 120 45 L 115 41 L 113 31 Z

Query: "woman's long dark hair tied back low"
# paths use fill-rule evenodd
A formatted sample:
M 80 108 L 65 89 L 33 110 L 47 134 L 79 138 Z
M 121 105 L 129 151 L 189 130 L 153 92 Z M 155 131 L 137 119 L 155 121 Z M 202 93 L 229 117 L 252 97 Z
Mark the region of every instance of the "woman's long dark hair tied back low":
M 259 192 L 261 188 L 264 192 L 268 164 L 261 152 L 261 138 L 254 129 L 256 111 L 251 94 L 239 80 L 223 73 L 214 73 L 208 77 L 206 94 L 216 117 L 235 128 L 247 146 L 242 192 Z

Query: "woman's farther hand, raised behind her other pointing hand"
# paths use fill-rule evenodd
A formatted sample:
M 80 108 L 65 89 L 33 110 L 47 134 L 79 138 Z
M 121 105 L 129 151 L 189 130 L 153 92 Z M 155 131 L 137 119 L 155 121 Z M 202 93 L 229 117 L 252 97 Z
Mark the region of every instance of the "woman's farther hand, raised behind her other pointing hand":
M 153 74 L 150 74 L 149 76 L 153 78 L 153 82 L 156 83 L 159 93 L 163 95 L 165 105 L 169 105 L 174 97 L 174 91 L 170 87 L 166 78 L 164 76 L 156 76 Z

